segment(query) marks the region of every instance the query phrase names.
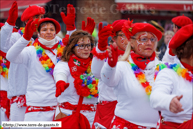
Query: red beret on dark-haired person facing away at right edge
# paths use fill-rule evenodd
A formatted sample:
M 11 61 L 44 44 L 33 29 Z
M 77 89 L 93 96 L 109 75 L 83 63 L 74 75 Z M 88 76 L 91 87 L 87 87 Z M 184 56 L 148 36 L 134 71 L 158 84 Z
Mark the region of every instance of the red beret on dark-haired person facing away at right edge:
M 179 47 L 191 36 L 193 36 L 193 24 L 183 26 L 172 37 L 169 43 L 169 48 L 175 49 Z

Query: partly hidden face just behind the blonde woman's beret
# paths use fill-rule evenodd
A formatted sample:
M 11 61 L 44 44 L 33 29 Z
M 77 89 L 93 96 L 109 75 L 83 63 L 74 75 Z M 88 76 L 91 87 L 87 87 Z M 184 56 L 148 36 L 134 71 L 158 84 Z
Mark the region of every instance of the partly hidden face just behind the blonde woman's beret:
M 128 44 L 128 39 L 122 31 L 119 31 L 117 36 L 113 37 L 113 40 L 116 42 L 119 50 L 125 51 Z

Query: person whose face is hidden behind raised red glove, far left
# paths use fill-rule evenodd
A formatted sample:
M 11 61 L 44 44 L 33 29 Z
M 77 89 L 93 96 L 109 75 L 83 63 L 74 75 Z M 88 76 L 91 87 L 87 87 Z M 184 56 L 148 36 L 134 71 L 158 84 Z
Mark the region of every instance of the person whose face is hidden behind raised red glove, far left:
M 39 6 L 29 6 L 24 10 L 21 20 L 27 22 L 30 17 L 41 18 L 45 10 L 43 7 Z M 7 53 L 9 48 L 22 37 L 24 28 L 20 28 L 17 33 L 12 33 L 13 27 L 15 26 L 16 20 L 18 17 L 18 5 L 17 2 L 12 4 L 12 7 L 9 10 L 9 17 L 7 22 L 2 27 L 1 30 L 1 50 L 4 53 Z M 32 43 L 34 40 L 31 38 L 29 43 Z M 23 64 L 10 64 L 9 76 L 8 76 L 8 89 L 7 94 L 8 98 L 11 99 L 11 109 L 10 109 L 10 120 L 11 121 L 23 121 L 26 103 L 25 103 L 25 94 L 26 87 L 28 82 L 27 69 Z

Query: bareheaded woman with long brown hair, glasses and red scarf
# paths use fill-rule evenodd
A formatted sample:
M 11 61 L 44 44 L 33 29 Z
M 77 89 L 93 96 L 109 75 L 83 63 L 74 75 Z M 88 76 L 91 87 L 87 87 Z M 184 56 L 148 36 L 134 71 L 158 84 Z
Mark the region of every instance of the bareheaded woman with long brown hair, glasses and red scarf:
M 55 116 L 71 115 L 76 110 L 79 98 L 83 97 L 82 113 L 90 126 L 93 123 L 98 97 L 98 79 L 91 73 L 94 40 L 86 31 L 75 31 L 64 49 L 61 61 L 54 68 L 56 97 L 59 106 Z

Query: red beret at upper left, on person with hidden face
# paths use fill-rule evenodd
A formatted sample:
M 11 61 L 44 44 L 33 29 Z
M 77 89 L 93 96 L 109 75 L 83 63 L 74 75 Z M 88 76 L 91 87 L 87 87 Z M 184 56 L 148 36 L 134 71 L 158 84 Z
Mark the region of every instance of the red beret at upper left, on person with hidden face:
M 24 22 L 26 20 L 29 20 L 33 16 L 41 14 L 45 14 L 45 9 L 43 7 L 37 5 L 29 6 L 24 10 L 23 14 L 21 15 L 21 21 Z

